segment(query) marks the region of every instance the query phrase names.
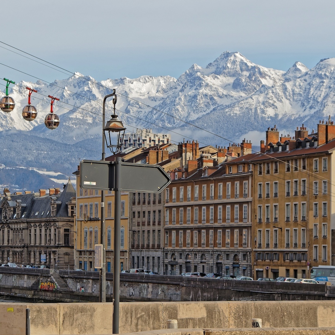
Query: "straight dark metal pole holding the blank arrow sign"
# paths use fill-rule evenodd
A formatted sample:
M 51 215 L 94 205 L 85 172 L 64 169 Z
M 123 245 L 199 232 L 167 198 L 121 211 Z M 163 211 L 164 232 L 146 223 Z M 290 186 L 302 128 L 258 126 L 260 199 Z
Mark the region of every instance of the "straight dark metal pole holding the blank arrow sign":
M 121 157 L 115 160 L 114 258 L 113 258 L 113 334 L 119 334 L 120 307 L 120 245 L 121 245 Z

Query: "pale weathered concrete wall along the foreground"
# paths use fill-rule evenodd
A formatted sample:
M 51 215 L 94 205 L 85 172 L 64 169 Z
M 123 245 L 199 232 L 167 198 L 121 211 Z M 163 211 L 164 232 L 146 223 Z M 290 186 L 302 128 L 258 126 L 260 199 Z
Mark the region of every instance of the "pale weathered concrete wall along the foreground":
M 0 303 L 0 335 L 25 334 L 26 308 L 31 334 L 112 334 L 112 303 Z M 121 303 L 119 330 L 165 329 L 169 319 L 187 329 L 250 328 L 253 318 L 264 328 L 335 327 L 334 312 L 333 301 Z

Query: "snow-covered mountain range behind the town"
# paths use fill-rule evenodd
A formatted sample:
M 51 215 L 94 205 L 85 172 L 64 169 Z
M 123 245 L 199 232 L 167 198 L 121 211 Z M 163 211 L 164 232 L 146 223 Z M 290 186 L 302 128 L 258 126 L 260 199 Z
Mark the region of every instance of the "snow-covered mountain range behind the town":
M 14 111 L 0 113 L 4 149 L 0 163 L 46 169 L 67 177 L 81 159 L 100 159 L 102 102 L 113 88 L 118 95 L 117 114 L 129 132 L 152 128 L 157 133 L 171 133 L 173 141 L 198 140 L 200 146 L 237 143 L 245 137 L 257 146 L 264 139 L 260 132 L 274 124 L 289 134 L 302 123 L 312 130 L 319 120 L 334 116 L 334 66 L 334 58 L 320 60 L 312 69 L 296 62 L 285 72 L 227 51 L 205 68 L 192 65 L 178 79 L 141 76 L 97 82 L 75 73 L 53 83 L 21 81 L 12 85 L 9 93 L 16 102 Z M 26 86 L 38 90 L 31 97 L 38 116 L 30 122 L 21 116 L 27 104 Z M 55 130 L 44 125 L 50 112 L 48 95 L 60 99 L 54 103 L 54 113 L 60 117 Z M 108 119 L 111 102 L 106 110 Z M 11 182 L 0 177 L 0 184 Z

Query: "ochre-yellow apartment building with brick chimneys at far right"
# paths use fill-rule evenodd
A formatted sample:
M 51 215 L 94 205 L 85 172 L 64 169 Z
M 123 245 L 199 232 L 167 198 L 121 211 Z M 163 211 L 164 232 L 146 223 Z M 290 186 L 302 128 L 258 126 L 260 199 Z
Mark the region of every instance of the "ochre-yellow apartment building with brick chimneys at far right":
M 309 277 L 309 269 L 334 264 L 332 155 L 335 125 L 304 125 L 295 137 L 266 132 L 261 153 L 245 157 L 254 172 L 254 277 Z

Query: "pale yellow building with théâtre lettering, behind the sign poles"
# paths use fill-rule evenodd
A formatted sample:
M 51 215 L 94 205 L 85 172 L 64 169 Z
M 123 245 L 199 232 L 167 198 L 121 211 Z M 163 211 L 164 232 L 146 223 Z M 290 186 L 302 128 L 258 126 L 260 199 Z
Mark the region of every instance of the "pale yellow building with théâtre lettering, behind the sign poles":
M 94 245 L 101 244 L 101 191 L 82 189 L 79 180 L 79 166 L 76 175 L 76 242 L 74 264 L 76 269 L 94 271 Z M 106 271 L 113 269 L 114 250 L 114 192 L 105 191 L 105 236 Z M 121 193 L 121 245 L 120 269 L 129 268 L 129 193 Z

